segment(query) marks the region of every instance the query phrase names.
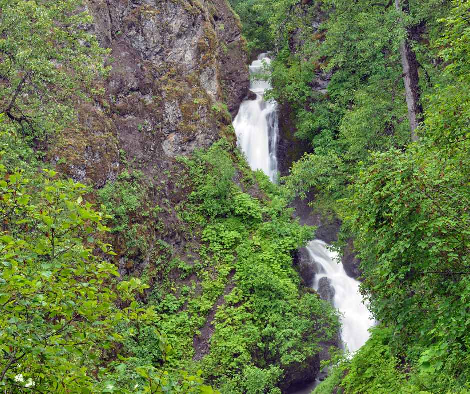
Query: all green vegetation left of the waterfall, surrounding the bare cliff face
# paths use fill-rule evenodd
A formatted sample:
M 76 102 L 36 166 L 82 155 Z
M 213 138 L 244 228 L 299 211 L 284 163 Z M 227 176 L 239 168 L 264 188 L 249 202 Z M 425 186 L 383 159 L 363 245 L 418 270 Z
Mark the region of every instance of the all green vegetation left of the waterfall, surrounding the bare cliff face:
M 2 390 L 279 394 L 337 337 L 293 268 L 314 229 L 224 139 L 152 178 L 120 149 L 100 189 L 46 163 L 55 136 L 79 133 L 74 101 L 102 99 L 107 52 L 80 4 L 1 7 L 15 27 L 0 40 Z

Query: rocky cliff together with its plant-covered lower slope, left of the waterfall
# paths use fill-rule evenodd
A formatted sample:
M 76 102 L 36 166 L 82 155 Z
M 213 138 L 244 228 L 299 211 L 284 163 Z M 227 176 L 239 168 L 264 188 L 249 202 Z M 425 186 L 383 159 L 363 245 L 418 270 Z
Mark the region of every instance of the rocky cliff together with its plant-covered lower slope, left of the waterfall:
M 256 373 L 272 375 L 265 384 L 273 390 L 313 380 L 319 370 L 317 342 L 335 335 L 334 317 L 326 304 L 300 285 L 292 269 L 292 256 L 304 242 L 302 232 L 308 230 L 291 223 L 290 211 L 276 212 L 279 207 L 273 202 L 282 204 L 280 195 L 260 186 L 262 176 L 254 179 L 235 150 L 231 119 L 249 86 L 248 52 L 236 15 L 225 0 L 90 1 L 88 10 L 94 17 L 89 31 L 110 49 L 112 68 L 100 82 L 105 95 L 92 104 L 80 104 L 80 129 L 57 138 L 49 157 L 74 180 L 94 185 L 92 198 L 103 203 L 112 217 L 108 224 L 113 228 L 111 243 L 120 274 L 139 276 L 150 286 L 141 300 L 155 304 L 161 313 L 155 326 L 175 348 L 170 365 L 189 370 L 200 366 L 204 377 L 227 393 L 232 392 L 227 387 L 239 384 L 231 381 L 246 376 L 250 365 L 259 367 L 253 369 L 259 370 Z M 220 138 L 221 144 L 210 148 Z M 209 150 L 198 156 L 199 149 Z M 234 176 L 225 179 L 218 173 L 225 170 L 218 160 L 229 171 L 233 168 Z M 221 217 L 228 220 L 211 217 L 203 207 L 202 216 L 192 216 L 194 209 L 201 209 L 202 202 L 194 206 L 192 198 L 198 189 L 217 187 L 194 178 L 201 165 L 208 174 L 197 176 L 221 176 L 233 190 L 215 196 Z M 246 216 L 243 210 L 233 215 L 238 208 L 230 207 L 231 194 L 240 191 L 245 192 L 243 198 L 250 198 L 243 209 L 256 211 L 260 204 L 265 210 L 261 224 L 281 220 L 290 226 L 287 232 L 270 240 L 261 235 L 264 230 L 257 216 L 256 224 L 251 222 L 249 210 Z M 239 218 L 240 224 L 230 222 Z M 220 239 L 207 235 L 212 227 Z M 272 253 L 266 260 L 271 262 L 263 263 L 262 269 L 270 271 L 270 264 L 281 264 L 270 280 L 281 280 L 282 292 L 272 287 L 274 295 L 265 295 L 273 284 L 256 284 L 255 271 L 244 272 L 248 256 L 239 255 L 241 245 L 233 231 L 246 237 L 245 249 L 252 247 L 251 237 L 266 237 L 260 246 L 254 240 L 261 255 L 252 262 L 253 268 L 260 269 L 260 261 L 267 258 L 263 255 Z M 229 240 L 230 236 L 235 238 Z M 279 240 L 280 248 L 274 246 Z M 261 300 L 270 308 L 280 302 L 276 311 L 280 314 L 269 320 L 262 309 L 256 310 Z M 296 310 L 298 302 L 305 310 Z M 231 322 L 232 313 L 243 313 L 249 330 L 227 343 L 223 330 L 240 329 L 236 319 Z M 284 321 L 287 316 L 298 319 L 298 326 Z M 324 331 L 321 320 L 331 333 Z M 269 332 L 271 326 L 300 337 L 289 343 Z M 244 384 L 249 390 L 254 383 Z

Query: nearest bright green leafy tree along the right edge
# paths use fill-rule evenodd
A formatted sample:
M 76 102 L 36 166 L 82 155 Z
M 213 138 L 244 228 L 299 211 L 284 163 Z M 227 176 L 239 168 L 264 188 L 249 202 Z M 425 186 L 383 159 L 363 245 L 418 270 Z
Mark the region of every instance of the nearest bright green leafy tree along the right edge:
M 455 5 L 439 40 L 449 45 L 441 52 L 446 84 L 426 97 L 419 143 L 372 154 L 343 203 L 364 270 L 362 291 L 391 330 L 390 354 L 405 358 L 413 368 L 409 381 L 431 392 L 466 392 L 470 376 L 470 96 L 460 89 L 469 81 L 460 56 L 470 28 L 468 1 Z

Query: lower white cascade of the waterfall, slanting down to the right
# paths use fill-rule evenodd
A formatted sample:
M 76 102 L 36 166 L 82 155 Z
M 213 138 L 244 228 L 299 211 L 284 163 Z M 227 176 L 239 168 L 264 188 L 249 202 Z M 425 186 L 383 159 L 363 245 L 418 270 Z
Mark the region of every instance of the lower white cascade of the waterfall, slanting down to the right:
M 319 272 L 315 275 L 313 288 L 318 290 L 321 278 L 327 277 L 334 289 L 333 305 L 341 313 L 341 339 L 350 352 L 358 350 L 369 338 L 368 329 L 374 324 L 367 306 L 359 293 L 359 282 L 349 277 L 342 264 L 338 264 L 337 253 L 328 250 L 320 240 L 307 245 L 311 260 Z

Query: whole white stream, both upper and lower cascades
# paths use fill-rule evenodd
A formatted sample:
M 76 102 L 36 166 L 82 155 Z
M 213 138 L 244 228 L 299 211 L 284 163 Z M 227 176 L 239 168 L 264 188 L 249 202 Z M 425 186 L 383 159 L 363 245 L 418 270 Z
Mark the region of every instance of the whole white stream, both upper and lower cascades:
M 262 71 L 263 63 L 269 64 L 268 53 L 261 53 L 249 67 L 250 74 Z M 277 103 L 264 101 L 264 90 L 272 86 L 269 81 L 252 79 L 250 90 L 256 94 L 255 100 L 241 103 L 233 120 L 238 146 L 245 154 L 250 167 L 261 169 L 272 182 L 277 180 L 277 142 L 279 126 Z M 359 282 L 349 277 L 338 255 L 329 250 L 321 240 L 312 240 L 306 245 L 310 261 L 318 272 L 314 277 L 313 288 L 327 288 L 330 301 L 341 313 L 341 339 L 350 352 L 358 350 L 368 339 L 368 329 L 374 324 L 359 293 Z M 295 394 L 309 394 L 318 381 L 306 385 Z

